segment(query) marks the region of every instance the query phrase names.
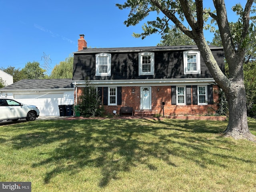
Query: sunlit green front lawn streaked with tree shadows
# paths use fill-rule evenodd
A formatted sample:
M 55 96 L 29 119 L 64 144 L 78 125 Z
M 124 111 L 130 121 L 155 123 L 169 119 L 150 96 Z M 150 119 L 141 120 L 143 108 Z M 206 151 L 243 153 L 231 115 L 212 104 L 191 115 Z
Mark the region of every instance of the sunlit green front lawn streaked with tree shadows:
M 0 126 L 0 181 L 33 192 L 254 192 L 256 144 L 228 122 L 90 119 Z M 249 119 L 256 134 L 256 120 Z

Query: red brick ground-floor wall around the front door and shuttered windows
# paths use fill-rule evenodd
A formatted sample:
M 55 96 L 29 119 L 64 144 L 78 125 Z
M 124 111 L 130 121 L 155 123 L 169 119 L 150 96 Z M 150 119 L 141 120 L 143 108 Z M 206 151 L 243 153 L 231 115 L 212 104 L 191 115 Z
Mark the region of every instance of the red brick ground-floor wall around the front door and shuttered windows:
M 133 91 L 134 89 L 134 91 Z M 82 94 L 83 88 L 77 88 L 77 95 Z M 122 104 L 117 106 L 104 106 L 106 114 L 112 114 L 114 110 L 119 115 L 120 108 L 123 106 L 132 107 L 134 109 L 135 116 L 152 116 L 153 114 L 163 115 L 162 102 L 164 105 L 165 116 L 177 116 L 177 115 L 204 115 L 212 114 L 218 108 L 218 94 L 216 93 L 218 86 L 213 86 L 213 103 L 208 105 L 172 105 L 172 93 L 171 86 L 151 86 L 151 110 L 140 110 L 140 86 L 124 86 L 122 87 Z M 76 94 L 76 93 L 75 93 Z M 192 94 L 192 86 L 191 86 Z M 76 98 L 76 96 L 75 96 Z M 102 95 L 103 98 L 103 95 Z M 191 100 L 193 97 L 191 95 Z

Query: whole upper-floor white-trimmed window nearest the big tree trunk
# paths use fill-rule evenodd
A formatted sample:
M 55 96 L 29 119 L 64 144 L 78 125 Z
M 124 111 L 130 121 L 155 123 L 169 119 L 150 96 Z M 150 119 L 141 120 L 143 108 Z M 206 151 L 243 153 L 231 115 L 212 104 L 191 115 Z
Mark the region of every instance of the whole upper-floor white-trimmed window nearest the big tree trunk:
M 184 51 L 184 74 L 200 74 L 200 52 L 199 51 Z

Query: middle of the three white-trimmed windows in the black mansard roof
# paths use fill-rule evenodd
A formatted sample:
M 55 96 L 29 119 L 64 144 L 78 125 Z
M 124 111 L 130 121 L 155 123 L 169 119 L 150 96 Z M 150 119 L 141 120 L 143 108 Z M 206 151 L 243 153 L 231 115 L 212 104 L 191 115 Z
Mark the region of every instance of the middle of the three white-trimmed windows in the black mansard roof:
M 139 75 L 154 75 L 154 52 L 139 53 Z

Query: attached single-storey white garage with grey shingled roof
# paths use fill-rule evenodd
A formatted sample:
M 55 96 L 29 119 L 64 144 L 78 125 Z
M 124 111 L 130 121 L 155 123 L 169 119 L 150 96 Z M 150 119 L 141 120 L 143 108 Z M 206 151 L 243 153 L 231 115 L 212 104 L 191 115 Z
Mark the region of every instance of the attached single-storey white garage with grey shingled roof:
M 59 105 L 74 104 L 72 79 L 24 79 L 0 89 L 0 97 L 35 105 L 40 116 L 60 116 Z

